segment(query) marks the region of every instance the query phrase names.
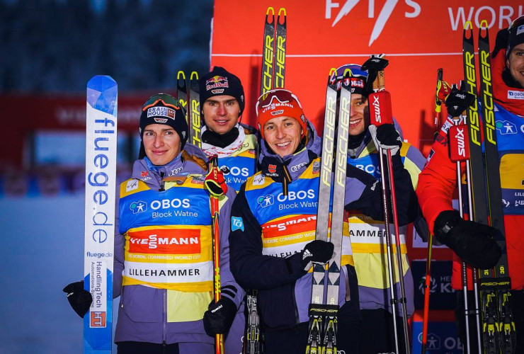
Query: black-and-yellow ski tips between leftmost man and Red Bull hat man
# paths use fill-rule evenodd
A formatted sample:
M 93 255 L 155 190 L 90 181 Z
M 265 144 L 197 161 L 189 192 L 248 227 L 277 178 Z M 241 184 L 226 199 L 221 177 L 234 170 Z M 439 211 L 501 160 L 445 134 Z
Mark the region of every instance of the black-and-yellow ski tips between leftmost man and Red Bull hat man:
M 189 84 L 186 81 L 186 74 L 183 71 L 178 72 L 176 75 L 176 98 L 183 105 L 183 108 L 186 108 L 186 120 L 189 127 L 188 142 L 197 147 L 202 147 L 198 72 L 191 72 Z

